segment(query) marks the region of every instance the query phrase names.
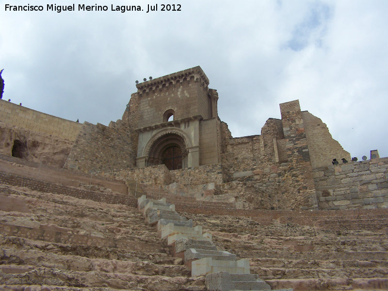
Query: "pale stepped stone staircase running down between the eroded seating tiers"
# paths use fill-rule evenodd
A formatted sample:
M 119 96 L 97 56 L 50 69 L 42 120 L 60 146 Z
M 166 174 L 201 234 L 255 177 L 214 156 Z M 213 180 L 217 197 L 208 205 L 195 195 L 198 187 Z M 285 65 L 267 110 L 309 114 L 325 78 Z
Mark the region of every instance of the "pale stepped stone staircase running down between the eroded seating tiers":
M 248 259 L 237 259 L 234 254 L 218 250 L 211 242 L 211 234 L 203 233 L 202 226 L 182 226 L 185 218 L 178 215 L 175 205 L 167 203 L 165 198 L 153 200 L 143 195 L 138 199 L 138 209 L 150 225 L 158 225 L 161 238 L 174 246 L 176 257 L 184 258 L 192 277 L 206 275 L 207 290 L 271 290 L 270 285 L 260 280 L 258 275 L 250 274 Z M 162 214 L 169 215 L 168 221 L 150 219 L 161 218 Z M 193 221 L 190 221 L 192 224 Z

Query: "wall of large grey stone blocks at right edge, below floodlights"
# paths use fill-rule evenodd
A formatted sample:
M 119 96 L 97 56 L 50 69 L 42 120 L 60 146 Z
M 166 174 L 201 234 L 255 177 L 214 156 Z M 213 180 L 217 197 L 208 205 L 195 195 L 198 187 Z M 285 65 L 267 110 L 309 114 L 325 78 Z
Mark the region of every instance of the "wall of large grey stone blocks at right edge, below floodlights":
M 323 210 L 388 208 L 388 158 L 313 170 Z

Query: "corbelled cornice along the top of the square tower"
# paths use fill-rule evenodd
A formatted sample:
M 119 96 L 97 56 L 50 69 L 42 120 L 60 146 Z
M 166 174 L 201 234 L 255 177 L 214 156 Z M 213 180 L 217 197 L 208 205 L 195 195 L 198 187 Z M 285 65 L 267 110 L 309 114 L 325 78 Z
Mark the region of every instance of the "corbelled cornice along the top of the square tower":
M 200 66 L 138 83 L 136 84 L 136 88 L 140 97 L 142 97 L 143 94 L 148 95 L 150 93 L 162 92 L 170 88 L 177 88 L 179 85 L 184 85 L 185 83 L 190 84 L 193 81 L 198 82 L 204 90 L 209 90 L 209 79 Z

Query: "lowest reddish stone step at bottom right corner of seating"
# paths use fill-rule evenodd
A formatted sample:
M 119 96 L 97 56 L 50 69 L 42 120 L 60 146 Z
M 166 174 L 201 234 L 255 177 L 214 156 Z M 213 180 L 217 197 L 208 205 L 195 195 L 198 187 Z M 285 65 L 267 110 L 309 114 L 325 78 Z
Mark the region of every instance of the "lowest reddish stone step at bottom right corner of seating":
M 388 290 L 388 278 L 296 278 L 265 280 L 271 288 L 293 288 L 294 290 Z

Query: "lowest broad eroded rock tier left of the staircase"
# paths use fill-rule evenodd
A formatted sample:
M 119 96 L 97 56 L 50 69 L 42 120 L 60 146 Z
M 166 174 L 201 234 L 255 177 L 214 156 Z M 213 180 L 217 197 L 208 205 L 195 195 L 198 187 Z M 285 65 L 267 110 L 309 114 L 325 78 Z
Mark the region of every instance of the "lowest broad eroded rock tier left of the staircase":
M 149 286 L 161 284 L 166 290 L 182 290 L 190 286 L 195 278 L 163 275 L 116 274 L 112 271 L 71 271 L 56 268 L 35 268 L 23 274 L 5 274 L 0 271 L 0 285 L 54 285 L 64 287 L 112 288 L 118 290 L 150 290 Z M 155 289 L 152 289 L 155 290 Z

